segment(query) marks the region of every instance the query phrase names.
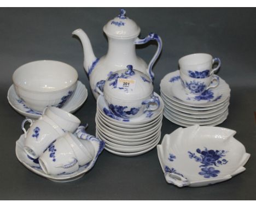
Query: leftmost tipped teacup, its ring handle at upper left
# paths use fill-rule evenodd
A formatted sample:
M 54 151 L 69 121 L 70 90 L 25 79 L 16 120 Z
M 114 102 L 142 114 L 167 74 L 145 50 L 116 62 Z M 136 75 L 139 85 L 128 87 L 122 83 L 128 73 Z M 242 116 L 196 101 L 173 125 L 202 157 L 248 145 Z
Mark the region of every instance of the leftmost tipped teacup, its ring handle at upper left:
M 24 124 L 30 122 L 30 128 L 26 131 Z M 25 133 L 24 151 L 34 159 L 43 154 L 44 150 L 54 142 L 54 140 L 65 134 L 53 120 L 46 115 L 42 115 L 38 120 L 25 119 L 22 122 L 22 130 Z

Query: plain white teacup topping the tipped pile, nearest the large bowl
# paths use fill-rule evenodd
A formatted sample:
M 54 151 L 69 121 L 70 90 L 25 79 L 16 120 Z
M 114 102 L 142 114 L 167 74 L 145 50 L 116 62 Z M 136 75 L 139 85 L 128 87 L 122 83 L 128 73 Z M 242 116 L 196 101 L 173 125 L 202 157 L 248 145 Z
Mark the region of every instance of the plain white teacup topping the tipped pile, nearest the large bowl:
M 81 121 L 73 114 L 57 107 L 47 107 L 44 109 L 44 115 L 53 120 L 61 129 L 69 132 L 77 130 Z

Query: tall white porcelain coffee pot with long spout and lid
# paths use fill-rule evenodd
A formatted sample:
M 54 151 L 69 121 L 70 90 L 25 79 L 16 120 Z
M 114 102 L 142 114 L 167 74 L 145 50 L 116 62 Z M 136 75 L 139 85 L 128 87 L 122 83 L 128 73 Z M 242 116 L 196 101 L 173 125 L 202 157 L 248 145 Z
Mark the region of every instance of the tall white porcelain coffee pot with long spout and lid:
M 154 78 L 152 67 L 162 49 L 161 38 L 155 33 L 149 33 L 146 38 L 139 39 L 138 35 L 141 29 L 133 20 L 126 17 L 125 13 L 124 9 L 120 9 L 120 14 L 103 27 L 109 45 L 107 54 L 100 59 L 95 57 L 91 42 L 82 29 L 76 29 L 72 33 L 77 35 L 82 42 L 84 69 L 89 76 L 91 90 L 96 99 L 99 95 L 96 90 L 97 82 L 105 81 L 110 72 L 125 69 L 127 65 L 133 65 L 135 69 L 147 74 L 152 80 Z M 138 44 L 145 44 L 150 40 L 158 42 L 158 49 L 147 65 L 143 59 L 137 57 L 135 47 Z

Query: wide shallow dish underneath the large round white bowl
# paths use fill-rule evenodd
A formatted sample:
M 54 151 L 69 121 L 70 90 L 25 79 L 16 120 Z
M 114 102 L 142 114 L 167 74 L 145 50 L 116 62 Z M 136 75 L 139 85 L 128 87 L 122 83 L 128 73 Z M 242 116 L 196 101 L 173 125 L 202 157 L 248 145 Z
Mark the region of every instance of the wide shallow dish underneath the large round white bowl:
M 61 109 L 69 113 L 73 113 L 83 105 L 83 103 L 87 99 L 87 96 L 88 91 L 85 85 L 82 82 L 78 81 L 77 88 L 75 89 L 74 94 Z M 11 85 L 11 87 L 9 88 L 7 99 L 11 107 L 13 107 L 15 111 L 17 111 L 21 115 L 24 115 L 26 118 L 38 119 L 42 115 L 42 112 L 33 111 L 25 105 L 25 103 L 16 94 L 14 85 Z

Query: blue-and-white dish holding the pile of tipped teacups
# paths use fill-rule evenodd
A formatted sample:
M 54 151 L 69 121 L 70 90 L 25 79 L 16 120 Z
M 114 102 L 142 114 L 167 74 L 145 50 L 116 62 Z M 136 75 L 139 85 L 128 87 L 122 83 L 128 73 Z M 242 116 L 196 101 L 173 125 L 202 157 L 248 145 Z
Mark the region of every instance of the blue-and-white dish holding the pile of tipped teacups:
M 104 142 L 102 142 L 102 140 L 93 136 L 88 137 L 86 139 L 90 140 L 92 145 L 94 145 L 95 155 L 92 158 L 91 162 L 89 162 L 88 164 L 85 164 L 84 166 L 80 166 L 76 172 L 71 174 L 63 173 L 57 176 L 45 174 L 39 165 L 38 159 L 34 160 L 30 158 L 23 150 L 24 142 L 25 142 L 24 134 L 22 134 L 20 138 L 16 141 L 16 149 L 15 149 L 16 157 L 27 169 L 31 170 L 33 173 L 43 176 L 46 179 L 49 179 L 55 182 L 74 181 L 81 178 L 86 172 L 88 172 L 92 167 L 94 167 L 94 164 L 97 161 L 98 155 L 100 155 L 100 153 L 104 149 Z

